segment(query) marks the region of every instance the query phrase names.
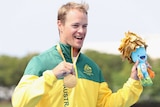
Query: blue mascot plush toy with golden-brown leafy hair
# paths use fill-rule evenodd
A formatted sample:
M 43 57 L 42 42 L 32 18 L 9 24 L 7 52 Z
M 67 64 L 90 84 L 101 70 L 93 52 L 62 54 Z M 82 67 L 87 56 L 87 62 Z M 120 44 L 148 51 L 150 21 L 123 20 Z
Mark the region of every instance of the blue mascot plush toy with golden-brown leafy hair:
M 118 50 L 122 53 L 123 60 L 127 59 L 130 63 L 139 61 L 137 75 L 141 84 L 143 86 L 151 86 L 153 84 L 151 78 L 154 78 L 155 74 L 147 63 L 146 48 L 147 45 L 140 36 L 133 32 L 127 32 Z

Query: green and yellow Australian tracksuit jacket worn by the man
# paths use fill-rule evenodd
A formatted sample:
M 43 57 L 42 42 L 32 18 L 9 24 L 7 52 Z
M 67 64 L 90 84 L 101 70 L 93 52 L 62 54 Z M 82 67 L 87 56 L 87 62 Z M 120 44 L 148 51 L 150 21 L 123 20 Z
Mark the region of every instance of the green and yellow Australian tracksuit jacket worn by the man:
M 60 47 L 66 61 L 73 63 L 72 47 Z M 56 46 L 34 56 L 14 90 L 13 107 L 130 107 L 142 93 L 140 82 L 131 78 L 113 93 L 98 65 L 83 53 L 76 62 L 77 85 L 67 88 L 52 72 L 62 61 Z

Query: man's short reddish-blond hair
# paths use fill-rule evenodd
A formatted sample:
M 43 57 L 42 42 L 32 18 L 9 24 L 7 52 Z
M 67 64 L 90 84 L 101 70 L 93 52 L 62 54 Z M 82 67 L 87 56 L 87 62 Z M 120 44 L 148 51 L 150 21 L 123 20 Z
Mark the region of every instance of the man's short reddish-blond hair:
M 58 17 L 57 20 L 60 20 L 63 24 L 66 20 L 66 15 L 71 9 L 77 9 L 83 13 L 88 14 L 89 6 L 85 2 L 75 3 L 75 2 L 68 2 L 60 7 L 58 10 Z

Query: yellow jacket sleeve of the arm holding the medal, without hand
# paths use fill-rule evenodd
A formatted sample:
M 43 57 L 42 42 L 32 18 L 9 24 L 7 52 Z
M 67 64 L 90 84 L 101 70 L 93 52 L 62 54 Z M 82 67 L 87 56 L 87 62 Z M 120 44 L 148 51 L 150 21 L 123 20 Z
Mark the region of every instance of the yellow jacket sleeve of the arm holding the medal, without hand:
M 41 97 L 46 94 L 56 82 L 57 78 L 51 70 L 43 76 L 24 75 L 12 96 L 13 107 L 35 107 Z

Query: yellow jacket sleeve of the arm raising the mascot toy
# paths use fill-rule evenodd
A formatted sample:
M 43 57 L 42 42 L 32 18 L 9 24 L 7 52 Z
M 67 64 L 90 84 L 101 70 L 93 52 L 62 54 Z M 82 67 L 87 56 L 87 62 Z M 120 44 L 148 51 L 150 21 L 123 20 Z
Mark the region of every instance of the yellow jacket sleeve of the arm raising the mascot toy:
M 105 83 L 100 87 L 97 107 L 130 107 L 138 101 L 143 90 L 140 81 L 131 78 L 115 93 Z

